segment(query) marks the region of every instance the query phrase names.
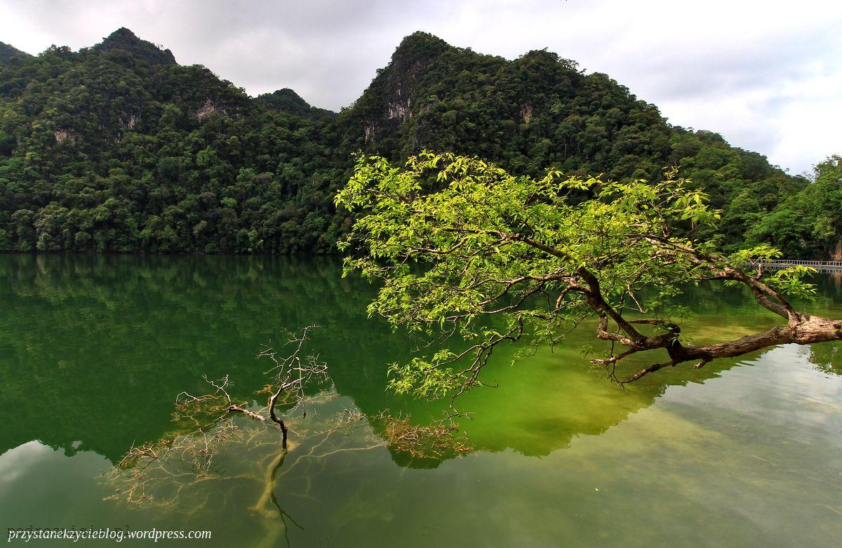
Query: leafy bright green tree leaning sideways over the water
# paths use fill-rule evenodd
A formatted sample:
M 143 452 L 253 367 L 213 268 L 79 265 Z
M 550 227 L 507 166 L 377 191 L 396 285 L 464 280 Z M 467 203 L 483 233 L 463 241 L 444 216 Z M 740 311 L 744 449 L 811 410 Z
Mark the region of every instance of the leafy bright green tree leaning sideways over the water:
M 611 343 L 592 361 L 621 383 L 684 362 L 700 368 L 775 344 L 842 339 L 842 320 L 811 316 L 787 300 L 813 295 L 804 280 L 810 269 L 769 271 L 763 264 L 779 256 L 771 247 L 724 255 L 695 236 L 719 215 L 674 169 L 658 183 L 557 171 L 536 180 L 451 154 L 424 152 L 404 168 L 360 156 L 336 202 L 358 215 L 339 243 L 345 272 L 380 280 L 370 314 L 468 341 L 393 364 L 397 391 L 461 394 L 477 385 L 500 343 L 556 343 L 585 321 Z M 783 322 L 724 343 L 686 341 L 662 305 L 701 280 L 745 286 Z M 621 360 L 656 349 L 668 359 L 616 376 Z

